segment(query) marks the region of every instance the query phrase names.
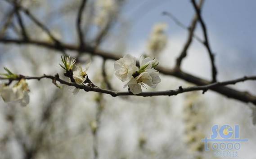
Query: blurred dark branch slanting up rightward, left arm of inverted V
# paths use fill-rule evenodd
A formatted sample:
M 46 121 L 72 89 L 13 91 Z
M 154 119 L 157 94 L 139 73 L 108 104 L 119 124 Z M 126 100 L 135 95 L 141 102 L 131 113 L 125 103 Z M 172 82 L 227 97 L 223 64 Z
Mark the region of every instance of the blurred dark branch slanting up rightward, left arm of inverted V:
M 198 10 L 200 10 L 202 8 L 203 2 L 204 2 L 204 0 L 200 0 L 200 2 L 198 4 Z M 176 67 L 178 69 L 180 69 L 180 65 L 181 65 L 182 60 L 187 56 L 187 51 L 189 49 L 190 44 L 192 43 L 193 36 L 194 36 L 194 31 L 196 29 L 197 22 L 198 22 L 198 15 L 196 13 L 194 18 L 193 18 L 193 20 L 192 20 L 192 22 L 191 22 L 191 24 L 190 24 L 190 27 L 188 28 L 189 35 L 188 35 L 187 42 L 185 43 L 185 45 L 184 45 L 184 47 L 183 47 L 183 49 L 182 49 L 182 51 L 180 53 L 180 57 L 178 57 L 176 59 Z

